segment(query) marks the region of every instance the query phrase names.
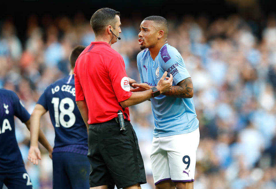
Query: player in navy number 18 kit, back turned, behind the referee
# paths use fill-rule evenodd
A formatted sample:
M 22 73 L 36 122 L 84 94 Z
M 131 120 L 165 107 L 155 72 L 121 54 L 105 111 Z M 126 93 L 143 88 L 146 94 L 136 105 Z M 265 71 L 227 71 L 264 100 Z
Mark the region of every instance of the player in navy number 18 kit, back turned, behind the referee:
M 87 127 L 75 102 L 74 67 L 85 49 L 77 46 L 70 54 L 68 77 L 49 85 L 39 98 L 31 115 L 31 144 L 28 159 L 38 164 L 40 151 L 37 136 L 40 118 L 49 110 L 55 128 L 53 149 L 53 189 L 89 188 L 90 164 L 87 159 Z

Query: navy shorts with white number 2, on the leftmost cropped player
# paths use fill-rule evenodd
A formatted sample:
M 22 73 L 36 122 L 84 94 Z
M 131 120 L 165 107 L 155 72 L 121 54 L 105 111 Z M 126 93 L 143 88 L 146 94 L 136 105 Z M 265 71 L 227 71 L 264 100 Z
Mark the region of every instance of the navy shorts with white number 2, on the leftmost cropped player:
M 0 173 L 0 188 L 3 188 L 3 184 L 9 189 L 33 189 L 25 167 L 18 167 L 9 172 Z

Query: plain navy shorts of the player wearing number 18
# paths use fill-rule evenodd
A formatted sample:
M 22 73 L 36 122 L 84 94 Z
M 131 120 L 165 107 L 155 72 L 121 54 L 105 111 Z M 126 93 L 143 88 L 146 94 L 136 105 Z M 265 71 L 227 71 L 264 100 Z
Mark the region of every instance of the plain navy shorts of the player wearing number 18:
M 87 155 L 53 153 L 53 189 L 89 188 L 90 164 Z

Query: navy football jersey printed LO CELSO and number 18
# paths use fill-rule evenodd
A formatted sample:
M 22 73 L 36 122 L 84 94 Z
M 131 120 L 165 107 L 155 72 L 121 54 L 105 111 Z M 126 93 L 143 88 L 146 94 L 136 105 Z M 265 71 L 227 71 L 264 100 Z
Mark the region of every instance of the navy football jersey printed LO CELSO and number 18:
M 53 152 L 75 152 L 87 155 L 87 127 L 75 101 L 74 75 L 69 75 L 49 85 L 39 98 L 49 110 L 55 128 Z

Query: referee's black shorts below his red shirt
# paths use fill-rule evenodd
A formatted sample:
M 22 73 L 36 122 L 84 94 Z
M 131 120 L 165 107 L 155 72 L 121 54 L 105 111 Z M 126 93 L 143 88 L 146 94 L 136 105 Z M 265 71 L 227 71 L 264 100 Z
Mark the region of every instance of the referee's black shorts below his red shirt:
M 89 125 L 88 160 L 90 187 L 127 187 L 146 183 L 145 168 L 136 133 L 129 121 L 120 131 L 115 119 Z

